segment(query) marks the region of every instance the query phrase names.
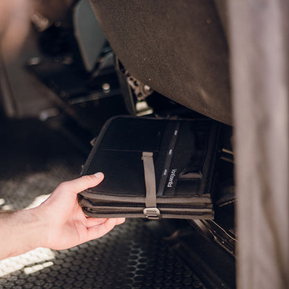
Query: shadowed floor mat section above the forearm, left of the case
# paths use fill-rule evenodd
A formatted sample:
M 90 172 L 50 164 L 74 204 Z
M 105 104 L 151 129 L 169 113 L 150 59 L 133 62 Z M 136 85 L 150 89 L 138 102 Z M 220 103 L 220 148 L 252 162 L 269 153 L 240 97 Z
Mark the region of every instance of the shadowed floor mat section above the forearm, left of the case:
M 85 156 L 60 132 L 28 119 L 1 126 L 0 159 L 0 210 L 8 210 L 26 208 L 79 176 Z

